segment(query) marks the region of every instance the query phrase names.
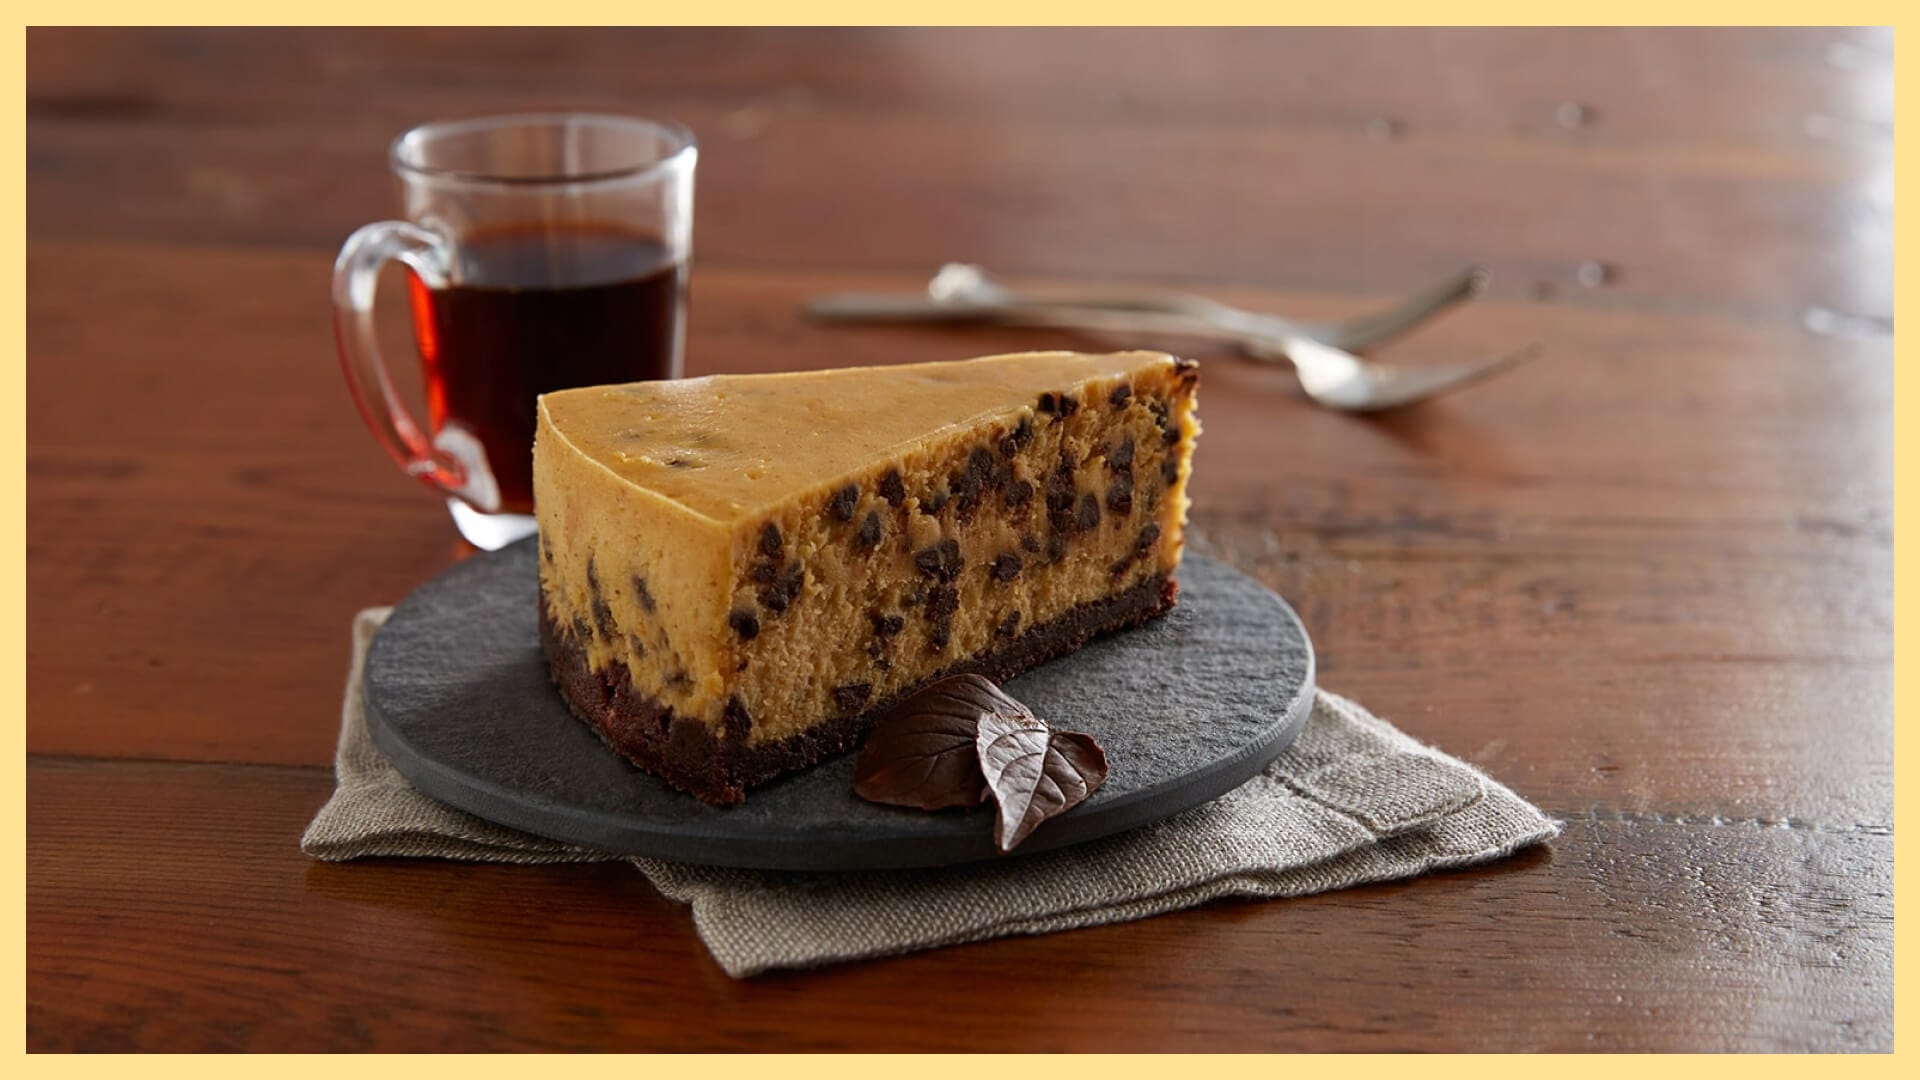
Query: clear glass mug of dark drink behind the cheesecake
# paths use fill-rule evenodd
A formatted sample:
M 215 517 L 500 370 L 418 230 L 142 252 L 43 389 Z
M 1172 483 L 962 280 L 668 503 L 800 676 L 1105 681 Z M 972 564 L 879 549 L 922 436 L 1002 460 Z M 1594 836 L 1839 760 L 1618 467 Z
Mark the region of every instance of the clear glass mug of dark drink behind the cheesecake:
M 407 219 L 340 248 L 334 338 L 374 438 L 447 494 L 474 546 L 534 532 L 540 394 L 680 377 L 695 156 L 685 129 L 614 115 L 430 123 L 394 140 Z M 388 259 L 407 269 L 426 429 L 374 332 Z

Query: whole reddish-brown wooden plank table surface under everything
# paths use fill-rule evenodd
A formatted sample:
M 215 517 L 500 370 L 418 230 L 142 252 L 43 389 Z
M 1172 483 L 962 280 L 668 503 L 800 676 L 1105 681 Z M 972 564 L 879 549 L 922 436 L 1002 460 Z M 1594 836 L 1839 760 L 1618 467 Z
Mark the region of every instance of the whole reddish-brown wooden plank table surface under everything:
M 1891 54 L 31 33 L 27 1042 L 1889 1047 Z M 396 131 L 528 106 L 699 133 L 695 373 L 1089 346 L 795 315 L 945 259 L 1308 315 L 1488 265 L 1400 356 L 1546 357 L 1402 415 L 1173 342 L 1206 363 L 1192 521 L 1300 607 L 1327 686 L 1561 838 L 747 982 L 628 869 L 307 861 L 348 623 L 459 553 L 348 402 L 332 254 L 394 211 Z

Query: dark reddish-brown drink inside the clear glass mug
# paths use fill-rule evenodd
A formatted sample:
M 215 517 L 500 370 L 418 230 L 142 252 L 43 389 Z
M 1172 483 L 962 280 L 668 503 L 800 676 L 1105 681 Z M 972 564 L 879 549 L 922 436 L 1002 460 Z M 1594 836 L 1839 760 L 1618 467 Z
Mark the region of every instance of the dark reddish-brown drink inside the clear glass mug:
M 616 225 L 470 233 L 459 263 L 457 284 L 407 279 L 428 423 L 467 429 L 493 463 L 499 509 L 528 513 L 534 400 L 678 377 L 685 263 Z

